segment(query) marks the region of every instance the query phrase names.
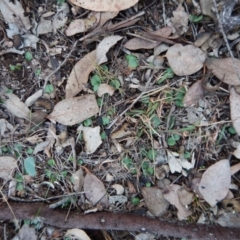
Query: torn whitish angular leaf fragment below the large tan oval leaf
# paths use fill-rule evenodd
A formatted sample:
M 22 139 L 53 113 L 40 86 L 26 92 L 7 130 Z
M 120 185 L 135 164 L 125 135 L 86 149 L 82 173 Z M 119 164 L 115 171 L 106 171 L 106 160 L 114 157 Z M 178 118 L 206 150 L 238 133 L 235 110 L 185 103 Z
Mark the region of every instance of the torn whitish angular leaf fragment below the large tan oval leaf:
M 78 127 L 77 131 L 83 131 L 83 140 L 85 142 L 85 151 L 87 154 L 94 153 L 102 144 L 99 126 L 92 128 L 81 125 Z

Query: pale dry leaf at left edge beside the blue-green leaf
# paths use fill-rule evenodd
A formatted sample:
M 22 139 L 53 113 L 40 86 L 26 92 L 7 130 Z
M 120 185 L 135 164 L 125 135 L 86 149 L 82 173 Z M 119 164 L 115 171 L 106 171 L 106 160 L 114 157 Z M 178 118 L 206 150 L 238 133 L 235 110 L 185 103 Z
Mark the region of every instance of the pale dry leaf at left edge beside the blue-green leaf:
M 17 161 L 13 157 L 0 157 L 0 178 L 9 180 L 17 167 Z

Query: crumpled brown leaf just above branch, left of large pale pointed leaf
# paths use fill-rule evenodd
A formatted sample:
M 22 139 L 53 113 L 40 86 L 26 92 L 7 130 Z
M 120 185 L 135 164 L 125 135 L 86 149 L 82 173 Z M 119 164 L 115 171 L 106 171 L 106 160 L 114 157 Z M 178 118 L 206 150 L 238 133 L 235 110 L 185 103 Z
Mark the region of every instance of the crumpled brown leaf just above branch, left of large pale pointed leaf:
M 179 201 L 178 191 L 181 189 L 181 186 L 176 184 L 171 184 L 163 189 L 163 197 L 174 205 L 178 210 L 178 219 L 185 220 L 192 215 L 192 212 L 187 210 Z M 181 200 L 183 201 L 183 199 Z

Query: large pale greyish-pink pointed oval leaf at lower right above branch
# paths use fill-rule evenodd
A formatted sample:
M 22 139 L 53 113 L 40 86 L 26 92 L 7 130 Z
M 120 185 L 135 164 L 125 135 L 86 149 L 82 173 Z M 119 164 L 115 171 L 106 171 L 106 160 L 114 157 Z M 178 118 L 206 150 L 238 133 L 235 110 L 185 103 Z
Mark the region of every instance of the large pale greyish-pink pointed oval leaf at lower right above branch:
M 212 207 L 227 196 L 231 183 L 228 160 L 221 160 L 210 166 L 202 175 L 199 191 Z

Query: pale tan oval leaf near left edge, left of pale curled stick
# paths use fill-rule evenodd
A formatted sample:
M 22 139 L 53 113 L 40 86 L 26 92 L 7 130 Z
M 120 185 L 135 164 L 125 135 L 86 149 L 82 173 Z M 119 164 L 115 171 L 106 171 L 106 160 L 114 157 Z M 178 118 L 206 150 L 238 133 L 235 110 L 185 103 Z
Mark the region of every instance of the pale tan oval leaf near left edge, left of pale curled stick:
M 5 93 L 5 97 L 4 105 L 10 113 L 19 118 L 29 119 L 30 110 L 18 96 L 13 93 Z

